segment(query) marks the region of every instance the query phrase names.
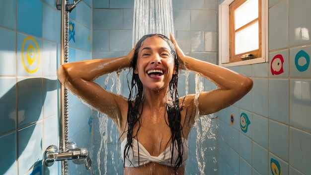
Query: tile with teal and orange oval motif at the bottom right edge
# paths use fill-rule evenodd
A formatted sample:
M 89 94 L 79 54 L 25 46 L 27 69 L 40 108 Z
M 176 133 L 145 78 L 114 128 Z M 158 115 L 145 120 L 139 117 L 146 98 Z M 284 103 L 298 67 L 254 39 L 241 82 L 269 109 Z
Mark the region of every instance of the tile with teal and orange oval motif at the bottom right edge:
M 288 162 L 284 162 L 277 156 L 269 153 L 269 175 L 298 175 L 296 173 L 288 173 Z

